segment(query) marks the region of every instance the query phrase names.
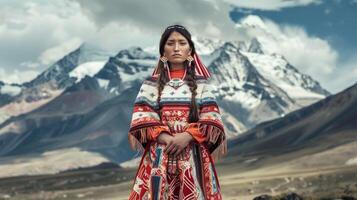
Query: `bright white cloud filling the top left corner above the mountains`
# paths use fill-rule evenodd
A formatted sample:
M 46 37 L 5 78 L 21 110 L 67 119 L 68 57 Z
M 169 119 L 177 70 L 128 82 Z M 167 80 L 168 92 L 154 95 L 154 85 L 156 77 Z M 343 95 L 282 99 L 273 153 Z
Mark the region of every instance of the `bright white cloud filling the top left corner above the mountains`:
M 41 72 L 46 64 L 68 53 L 66 44 L 90 38 L 96 26 L 79 11 L 79 4 L 70 1 L 1 2 L 2 72 L 10 77 L 17 73 L 15 69 L 33 74 L 32 69 L 37 68 Z M 11 80 L 17 80 L 16 77 Z

